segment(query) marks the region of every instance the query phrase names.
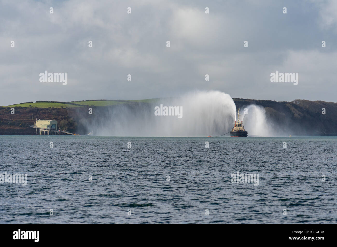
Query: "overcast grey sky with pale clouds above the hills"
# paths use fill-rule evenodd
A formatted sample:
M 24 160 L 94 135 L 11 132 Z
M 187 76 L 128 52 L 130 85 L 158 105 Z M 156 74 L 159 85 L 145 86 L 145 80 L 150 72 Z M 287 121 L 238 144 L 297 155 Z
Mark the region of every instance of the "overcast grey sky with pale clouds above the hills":
M 336 102 L 336 47 L 333 0 L 0 1 L 0 105 L 194 90 Z M 45 71 L 67 84 L 40 82 Z M 276 71 L 298 84 L 271 82 Z

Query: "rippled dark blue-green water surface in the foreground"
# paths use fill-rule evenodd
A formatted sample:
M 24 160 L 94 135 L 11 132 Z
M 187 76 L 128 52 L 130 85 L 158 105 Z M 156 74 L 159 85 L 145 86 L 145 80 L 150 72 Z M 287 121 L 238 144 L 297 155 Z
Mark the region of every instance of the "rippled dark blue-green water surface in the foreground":
M 336 154 L 336 136 L 3 135 L 0 173 L 27 185 L 0 183 L 0 223 L 336 223 Z

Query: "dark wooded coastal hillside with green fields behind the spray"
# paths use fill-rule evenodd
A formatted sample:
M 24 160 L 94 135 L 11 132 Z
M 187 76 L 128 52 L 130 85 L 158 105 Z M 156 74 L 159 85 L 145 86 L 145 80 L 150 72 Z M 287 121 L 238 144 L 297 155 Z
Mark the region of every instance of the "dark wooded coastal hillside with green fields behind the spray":
M 155 99 L 154 99 L 155 100 Z M 275 123 L 275 128 L 292 135 L 337 135 L 337 103 L 325 101 L 293 100 L 273 101 L 233 98 L 236 107 L 244 109 L 249 105 L 264 108 L 266 118 Z M 107 103 L 108 102 L 108 103 Z M 42 105 L 44 104 L 44 105 Z M 55 119 L 60 129 L 72 133 L 86 134 L 81 121 L 88 116 L 88 108 L 95 113 L 104 114 L 109 108 L 118 108 L 123 104 L 136 110 L 140 105 L 151 104 L 150 100 L 90 100 L 77 102 L 36 101 L 20 105 L 0 107 L 0 135 L 33 135 L 35 119 Z M 15 114 L 11 114 L 11 108 Z M 325 109 L 326 114 L 322 114 Z M 88 119 L 89 118 L 89 119 Z

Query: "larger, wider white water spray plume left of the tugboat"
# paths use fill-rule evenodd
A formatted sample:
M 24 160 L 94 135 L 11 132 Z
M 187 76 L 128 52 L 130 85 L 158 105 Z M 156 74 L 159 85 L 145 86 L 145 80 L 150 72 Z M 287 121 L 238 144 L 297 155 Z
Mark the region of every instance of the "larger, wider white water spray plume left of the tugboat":
M 155 116 L 155 107 L 182 107 L 182 118 Z M 229 94 L 195 91 L 154 103 L 120 104 L 96 110 L 91 123 L 82 123 L 99 136 L 207 136 L 231 130 L 236 106 Z M 94 113 L 95 114 L 95 113 Z

